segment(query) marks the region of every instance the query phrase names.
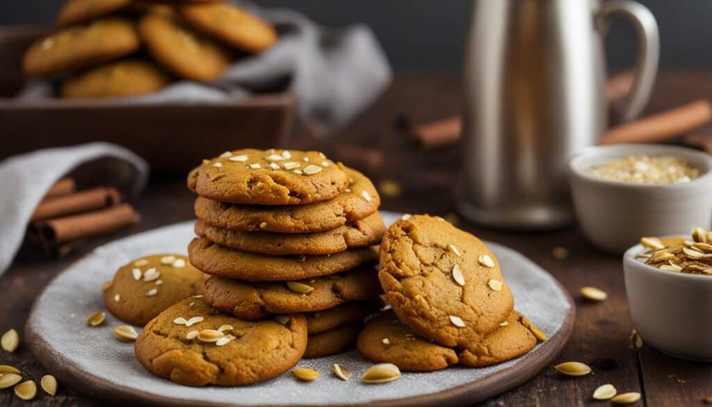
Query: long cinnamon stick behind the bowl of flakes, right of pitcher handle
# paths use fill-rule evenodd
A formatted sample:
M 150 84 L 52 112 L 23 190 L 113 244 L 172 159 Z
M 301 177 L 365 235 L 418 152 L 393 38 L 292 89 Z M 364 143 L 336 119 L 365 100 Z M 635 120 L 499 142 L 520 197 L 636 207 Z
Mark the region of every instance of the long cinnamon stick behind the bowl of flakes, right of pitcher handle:
M 700 99 L 612 128 L 602 135 L 600 144 L 666 141 L 700 128 L 710 120 L 712 105 L 706 99 Z

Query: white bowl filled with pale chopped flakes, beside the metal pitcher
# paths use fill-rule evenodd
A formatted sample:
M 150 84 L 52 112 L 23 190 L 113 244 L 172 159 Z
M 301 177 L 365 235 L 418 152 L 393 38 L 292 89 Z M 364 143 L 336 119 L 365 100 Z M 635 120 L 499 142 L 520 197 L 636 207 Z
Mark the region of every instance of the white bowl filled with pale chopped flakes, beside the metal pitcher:
M 569 162 L 581 228 L 620 254 L 641 236 L 684 235 L 712 222 L 712 157 L 674 145 L 603 145 Z

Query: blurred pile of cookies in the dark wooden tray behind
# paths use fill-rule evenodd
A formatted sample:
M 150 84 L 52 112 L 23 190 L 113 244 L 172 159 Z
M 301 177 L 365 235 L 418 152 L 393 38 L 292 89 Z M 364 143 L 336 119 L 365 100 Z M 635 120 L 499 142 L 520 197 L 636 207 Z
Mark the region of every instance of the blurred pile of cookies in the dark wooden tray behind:
M 61 79 L 65 98 L 135 96 L 174 78 L 210 81 L 277 41 L 273 26 L 221 0 L 69 0 L 60 28 L 25 53 L 28 76 Z

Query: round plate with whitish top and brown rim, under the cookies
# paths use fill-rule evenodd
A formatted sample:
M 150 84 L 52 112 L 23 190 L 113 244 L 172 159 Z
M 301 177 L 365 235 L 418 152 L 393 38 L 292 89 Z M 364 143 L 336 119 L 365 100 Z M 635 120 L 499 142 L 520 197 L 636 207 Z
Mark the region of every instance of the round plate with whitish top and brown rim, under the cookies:
M 382 212 L 388 224 L 400 214 Z M 548 336 L 533 351 L 513 361 L 471 369 L 453 366 L 430 373 L 405 372 L 397 381 L 377 386 L 358 377 L 372 364 L 350 351 L 298 366 L 321 372 L 311 383 L 289 373 L 252 386 L 190 388 L 147 373 L 132 344 L 117 341 L 111 329 L 122 324 L 110 314 L 103 326 L 87 327 L 84 319 L 103 309 L 101 283 L 130 259 L 155 252 L 185 252 L 192 222 L 163 227 L 120 239 L 88 254 L 51 282 L 36 300 L 26 326 L 26 343 L 60 383 L 88 396 L 114 403 L 163 406 L 445 406 L 466 405 L 496 396 L 547 369 L 573 329 L 575 306 L 556 280 L 518 252 L 491 243 L 515 294 L 517 309 Z M 340 381 L 332 363 L 354 374 Z

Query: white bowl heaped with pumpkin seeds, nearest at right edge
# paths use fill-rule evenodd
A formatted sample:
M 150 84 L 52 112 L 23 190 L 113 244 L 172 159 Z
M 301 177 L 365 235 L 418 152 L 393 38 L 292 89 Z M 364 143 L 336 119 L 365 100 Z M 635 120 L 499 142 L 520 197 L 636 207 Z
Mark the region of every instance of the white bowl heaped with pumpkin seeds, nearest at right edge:
M 712 232 L 644 237 L 623 256 L 635 329 L 645 344 L 712 362 Z

